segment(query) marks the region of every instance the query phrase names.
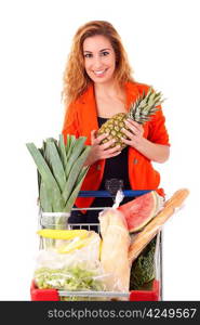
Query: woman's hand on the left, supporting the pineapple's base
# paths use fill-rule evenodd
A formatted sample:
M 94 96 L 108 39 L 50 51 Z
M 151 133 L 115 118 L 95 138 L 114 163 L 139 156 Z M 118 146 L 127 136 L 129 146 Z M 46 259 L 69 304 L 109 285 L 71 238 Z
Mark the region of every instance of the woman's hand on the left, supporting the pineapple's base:
M 91 151 L 84 165 L 92 165 L 99 159 L 116 157 L 121 153 L 120 145 L 109 148 L 109 146 L 115 143 L 115 140 L 109 140 L 108 142 L 101 144 L 107 136 L 108 134 L 105 133 L 96 136 L 96 131 L 91 131 Z

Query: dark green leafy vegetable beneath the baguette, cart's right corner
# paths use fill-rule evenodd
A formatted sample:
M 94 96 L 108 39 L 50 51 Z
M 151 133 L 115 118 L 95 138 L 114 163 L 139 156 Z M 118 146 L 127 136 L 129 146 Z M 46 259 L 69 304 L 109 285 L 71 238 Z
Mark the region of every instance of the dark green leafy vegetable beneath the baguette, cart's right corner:
M 155 278 L 155 237 L 141 252 L 131 268 L 130 290 L 139 290 L 150 287 Z

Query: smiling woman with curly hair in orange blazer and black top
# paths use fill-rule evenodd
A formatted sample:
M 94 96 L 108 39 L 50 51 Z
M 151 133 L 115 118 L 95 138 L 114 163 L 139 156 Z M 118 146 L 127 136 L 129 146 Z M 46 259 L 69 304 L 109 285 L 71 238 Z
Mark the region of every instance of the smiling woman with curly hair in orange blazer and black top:
M 75 35 L 71 52 L 64 74 L 64 100 L 66 115 L 63 134 L 86 136 L 92 145 L 85 161 L 90 166 L 82 191 L 108 190 L 112 194 L 123 190 L 157 190 L 160 176 L 152 168 L 151 160 L 164 162 L 170 155 L 169 136 L 162 109 L 144 126 L 128 121 L 123 130 L 128 147 L 120 152 L 112 141 L 101 144 L 106 134 L 97 136 L 96 131 L 117 113 L 126 113 L 134 102 L 149 87 L 135 82 L 131 76 L 121 39 L 111 24 L 104 21 L 89 22 Z M 123 203 L 133 198 L 124 198 Z M 111 198 L 78 198 L 76 206 L 104 207 L 114 204 Z M 98 222 L 98 212 L 74 211 L 70 222 Z

